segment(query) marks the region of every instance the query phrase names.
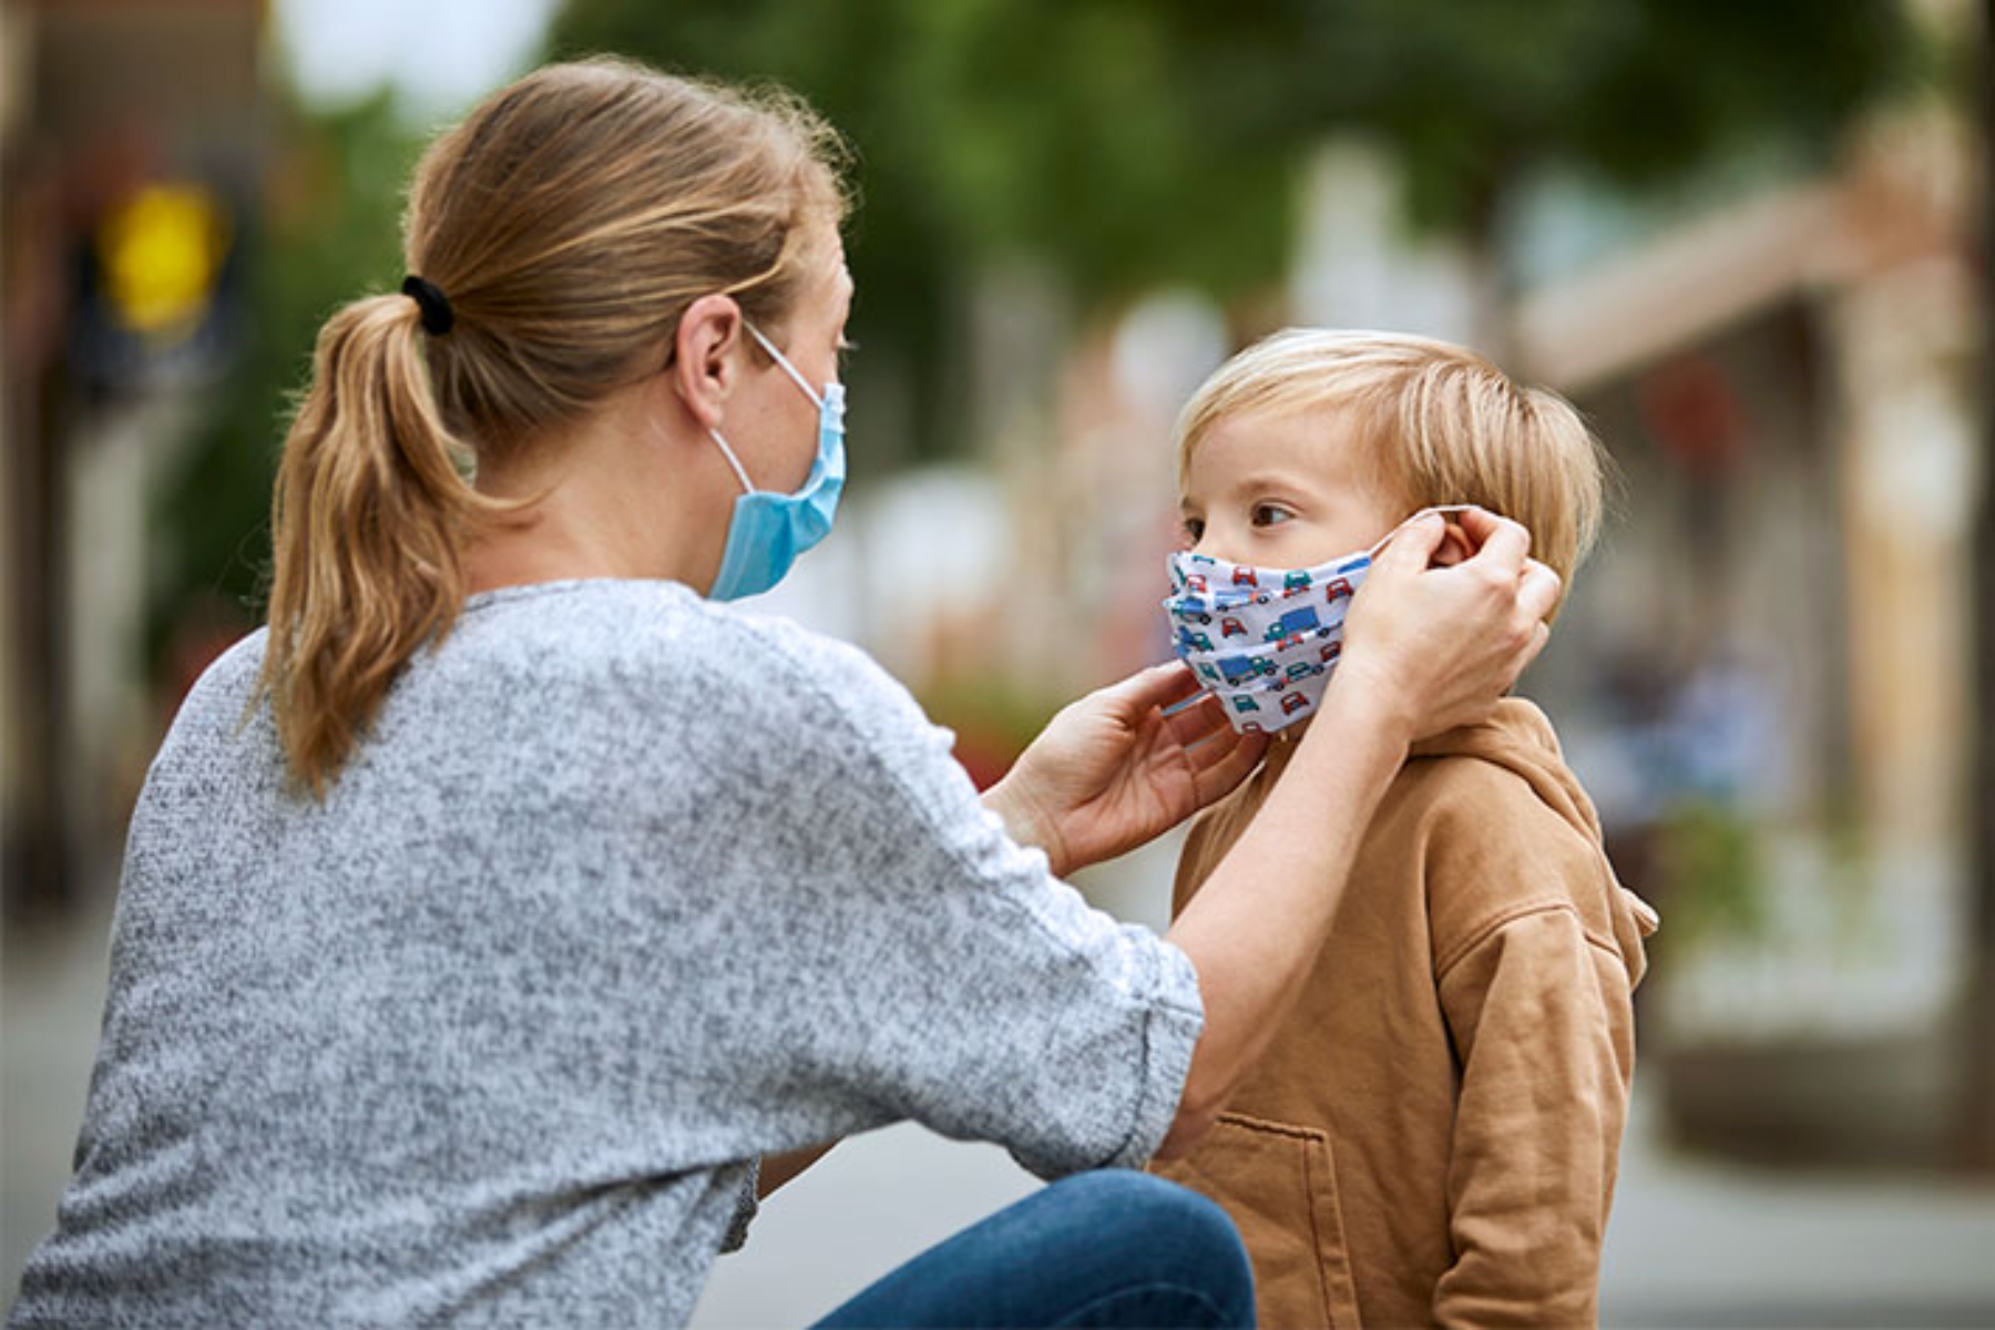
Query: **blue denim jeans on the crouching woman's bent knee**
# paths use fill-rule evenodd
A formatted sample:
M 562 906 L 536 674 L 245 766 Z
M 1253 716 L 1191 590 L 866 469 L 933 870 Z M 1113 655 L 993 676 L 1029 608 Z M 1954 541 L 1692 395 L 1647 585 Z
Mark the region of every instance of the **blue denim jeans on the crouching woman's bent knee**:
M 818 1326 L 1253 1326 L 1253 1272 L 1217 1204 L 1107 1168 L 964 1228 Z

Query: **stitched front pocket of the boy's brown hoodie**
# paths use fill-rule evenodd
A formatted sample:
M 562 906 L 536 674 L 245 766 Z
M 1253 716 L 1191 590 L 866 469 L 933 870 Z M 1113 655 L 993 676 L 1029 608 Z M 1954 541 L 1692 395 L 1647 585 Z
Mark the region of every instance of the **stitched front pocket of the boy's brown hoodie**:
M 1363 1330 L 1329 1133 L 1223 1113 L 1187 1159 L 1153 1168 L 1233 1216 L 1261 1326 Z

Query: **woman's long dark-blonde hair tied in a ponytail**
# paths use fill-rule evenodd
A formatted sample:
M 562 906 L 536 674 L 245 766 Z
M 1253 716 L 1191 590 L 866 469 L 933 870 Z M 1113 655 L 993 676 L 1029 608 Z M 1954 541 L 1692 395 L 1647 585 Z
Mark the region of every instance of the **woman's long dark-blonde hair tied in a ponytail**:
M 521 78 L 429 148 L 403 251 L 453 321 L 419 333 L 399 293 L 333 313 L 283 445 L 259 684 L 295 782 L 323 796 L 457 620 L 465 538 L 517 510 L 473 489 L 477 459 L 660 369 L 700 295 L 782 327 L 844 219 L 842 166 L 788 94 L 606 58 Z

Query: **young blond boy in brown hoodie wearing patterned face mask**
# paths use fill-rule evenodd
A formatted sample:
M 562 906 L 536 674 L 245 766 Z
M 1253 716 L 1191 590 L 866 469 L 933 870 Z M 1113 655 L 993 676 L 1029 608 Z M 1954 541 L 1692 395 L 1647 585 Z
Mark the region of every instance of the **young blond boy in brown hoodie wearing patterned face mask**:
M 1179 487 L 1179 650 L 1275 740 L 1193 826 L 1175 909 L 1281 780 L 1367 552 L 1472 502 L 1570 584 L 1602 481 L 1572 407 L 1470 351 L 1291 331 L 1185 407 Z M 1656 915 L 1614 881 L 1544 714 L 1508 698 L 1416 744 L 1351 881 L 1261 1067 L 1157 1172 L 1233 1214 L 1263 1326 L 1592 1324 Z

